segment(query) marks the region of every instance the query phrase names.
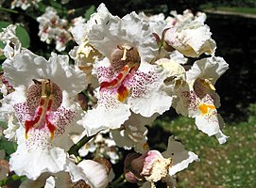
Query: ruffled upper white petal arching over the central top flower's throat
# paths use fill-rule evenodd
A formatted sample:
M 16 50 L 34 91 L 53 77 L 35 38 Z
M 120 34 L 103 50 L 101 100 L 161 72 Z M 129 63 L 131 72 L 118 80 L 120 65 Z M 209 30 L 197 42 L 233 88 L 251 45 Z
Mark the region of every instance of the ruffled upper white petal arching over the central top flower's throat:
M 136 47 L 142 62 L 150 62 L 158 54 L 157 42 L 149 29 L 149 24 L 142 22 L 135 12 L 120 19 L 112 16 L 105 5 L 101 4 L 91 20 L 96 20 L 96 22 L 91 22 L 94 25 L 88 32 L 88 39 L 99 52 L 109 59 L 117 45 L 126 43 Z

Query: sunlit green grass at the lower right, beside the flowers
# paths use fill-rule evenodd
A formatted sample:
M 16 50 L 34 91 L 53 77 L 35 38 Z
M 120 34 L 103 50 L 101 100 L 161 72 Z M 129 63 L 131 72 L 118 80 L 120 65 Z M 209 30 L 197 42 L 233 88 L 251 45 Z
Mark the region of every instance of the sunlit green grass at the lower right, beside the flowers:
M 256 121 L 227 125 L 227 143 L 219 145 L 196 129 L 194 119 L 157 120 L 156 127 L 174 133 L 186 149 L 194 151 L 199 163 L 179 172 L 178 187 L 256 187 Z

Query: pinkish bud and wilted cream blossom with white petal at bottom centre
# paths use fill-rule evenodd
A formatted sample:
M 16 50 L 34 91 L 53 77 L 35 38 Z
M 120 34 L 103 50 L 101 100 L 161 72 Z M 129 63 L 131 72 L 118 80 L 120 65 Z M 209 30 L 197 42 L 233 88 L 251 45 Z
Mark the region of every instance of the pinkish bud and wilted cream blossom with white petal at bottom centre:
M 168 147 L 164 152 L 149 150 L 143 155 L 129 153 L 125 160 L 125 177 L 132 183 L 149 181 L 168 182 L 172 176 L 198 161 L 197 155 L 184 149 L 183 145 L 169 137 Z

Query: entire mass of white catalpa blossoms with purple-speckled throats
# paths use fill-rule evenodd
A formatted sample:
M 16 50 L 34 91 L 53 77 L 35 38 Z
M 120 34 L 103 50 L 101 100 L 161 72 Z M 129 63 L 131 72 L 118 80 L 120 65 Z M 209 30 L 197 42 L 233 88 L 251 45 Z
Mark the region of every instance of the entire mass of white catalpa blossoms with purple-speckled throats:
M 9 169 L 27 177 L 22 187 L 107 187 L 114 174 L 103 157 L 117 163 L 117 147 L 133 149 L 124 164 L 126 180 L 175 186 L 174 175 L 198 156 L 173 137 L 163 152 L 147 142 L 152 122 L 171 107 L 226 142 L 214 84 L 228 64 L 214 56 L 205 14 L 172 14 L 164 19 L 131 12 L 120 18 L 101 4 L 90 20 L 78 18 L 70 28 L 75 65 L 68 55 L 33 54 L 15 36 L 16 25 L 4 29 L 0 118 L 8 122 L 5 136 L 17 143 Z M 72 39 L 67 21 L 54 8 L 37 20 L 41 39 L 55 40 L 56 49 L 64 50 Z

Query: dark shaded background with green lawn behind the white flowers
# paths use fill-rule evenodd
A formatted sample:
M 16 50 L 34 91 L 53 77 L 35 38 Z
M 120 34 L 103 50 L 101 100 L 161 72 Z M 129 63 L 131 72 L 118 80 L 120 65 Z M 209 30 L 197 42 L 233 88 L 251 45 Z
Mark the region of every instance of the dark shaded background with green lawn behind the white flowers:
M 2 6 L 8 7 L 9 2 Z M 43 2 L 44 6 L 59 5 Z M 82 13 L 89 18 L 100 3 L 73 0 L 65 7 L 76 8 L 77 15 Z M 215 138 L 200 133 L 193 119 L 180 118 L 170 110 L 149 131 L 148 137 L 154 133 L 149 144 L 163 150 L 168 136 L 175 134 L 186 149 L 199 155 L 200 163 L 191 164 L 188 170 L 178 174 L 178 187 L 256 187 L 256 0 L 108 0 L 104 3 L 113 15 L 120 17 L 133 10 L 148 15 L 162 12 L 166 17 L 171 10 L 182 14 L 183 10 L 191 9 L 194 13 L 207 14 L 206 24 L 217 44 L 215 55 L 222 56 L 230 65 L 215 86 L 222 104 L 219 113 L 227 124 L 224 133 L 230 139 L 220 146 Z M 23 13 L 0 11 L 0 17 L 13 23 L 25 21 L 30 33 L 39 31 L 39 24 Z M 30 35 L 29 49 L 45 55 L 50 54 L 51 48 L 37 35 Z

